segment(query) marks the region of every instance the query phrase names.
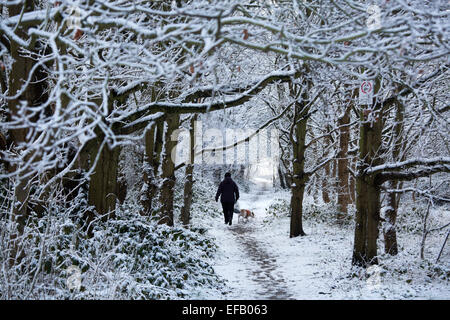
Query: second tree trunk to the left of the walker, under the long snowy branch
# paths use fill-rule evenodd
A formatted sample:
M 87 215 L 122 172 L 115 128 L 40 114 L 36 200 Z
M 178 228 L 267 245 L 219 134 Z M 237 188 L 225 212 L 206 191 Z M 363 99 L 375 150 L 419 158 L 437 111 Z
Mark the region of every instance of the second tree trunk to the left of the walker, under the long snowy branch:
M 159 223 L 167 224 L 168 226 L 173 226 L 175 159 L 172 159 L 172 154 L 175 153 L 177 141 L 175 140 L 175 138 L 172 139 L 172 133 L 176 129 L 178 129 L 180 116 L 178 114 L 170 114 L 167 116 L 166 122 L 167 122 L 167 130 L 164 136 L 164 153 L 161 164 L 162 185 L 160 193 L 161 213 Z

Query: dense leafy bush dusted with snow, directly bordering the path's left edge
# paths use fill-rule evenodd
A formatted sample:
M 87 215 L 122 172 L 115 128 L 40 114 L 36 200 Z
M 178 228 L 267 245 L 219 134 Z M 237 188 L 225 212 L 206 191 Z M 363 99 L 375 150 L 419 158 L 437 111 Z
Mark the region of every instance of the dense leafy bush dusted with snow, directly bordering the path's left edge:
M 195 287 L 218 283 L 208 264 L 215 244 L 205 230 L 157 225 L 125 209 L 123 216 L 95 232 L 93 244 L 110 239 L 103 252 L 115 252 L 110 272 L 123 298 L 181 298 Z M 126 277 L 120 276 L 126 275 Z

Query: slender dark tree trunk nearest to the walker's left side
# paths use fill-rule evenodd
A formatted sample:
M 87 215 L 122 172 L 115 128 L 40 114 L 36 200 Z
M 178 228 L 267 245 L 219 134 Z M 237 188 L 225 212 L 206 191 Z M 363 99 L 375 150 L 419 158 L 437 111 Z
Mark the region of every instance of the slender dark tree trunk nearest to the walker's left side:
M 194 124 L 197 121 L 197 115 L 191 118 L 189 128 L 189 140 L 190 140 L 190 162 L 186 166 L 186 181 L 184 183 L 184 203 L 181 208 L 181 221 L 186 226 L 189 224 L 191 216 L 191 204 L 192 204 L 192 187 L 194 185 L 194 160 L 195 160 L 195 131 Z

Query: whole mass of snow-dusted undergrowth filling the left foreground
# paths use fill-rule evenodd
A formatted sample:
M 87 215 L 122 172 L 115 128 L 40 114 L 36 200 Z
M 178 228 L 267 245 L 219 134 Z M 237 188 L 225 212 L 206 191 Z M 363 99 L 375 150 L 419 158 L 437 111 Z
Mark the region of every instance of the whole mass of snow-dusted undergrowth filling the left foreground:
M 126 203 L 115 219 L 96 220 L 88 238 L 80 229 L 85 203 L 73 203 L 53 201 L 29 221 L 18 265 L 8 261 L 13 224 L 1 220 L 1 299 L 176 299 L 221 286 L 206 230 L 158 225 Z M 73 276 L 79 287 L 70 285 Z

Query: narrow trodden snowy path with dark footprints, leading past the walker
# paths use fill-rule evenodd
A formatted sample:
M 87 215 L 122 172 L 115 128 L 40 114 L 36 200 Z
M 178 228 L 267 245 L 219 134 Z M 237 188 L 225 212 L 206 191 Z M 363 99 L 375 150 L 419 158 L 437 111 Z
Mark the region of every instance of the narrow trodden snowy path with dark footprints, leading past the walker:
M 267 248 L 258 232 L 272 200 L 268 182 L 261 182 L 251 193 L 241 192 L 240 208 L 252 210 L 255 219 L 238 222 L 235 214 L 232 226 L 223 224 L 215 230 L 219 246 L 223 244 L 222 259 L 215 269 L 233 288 L 227 294 L 229 299 L 292 299 L 272 248 Z

